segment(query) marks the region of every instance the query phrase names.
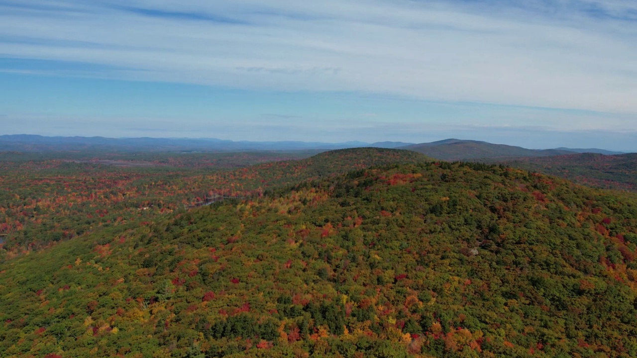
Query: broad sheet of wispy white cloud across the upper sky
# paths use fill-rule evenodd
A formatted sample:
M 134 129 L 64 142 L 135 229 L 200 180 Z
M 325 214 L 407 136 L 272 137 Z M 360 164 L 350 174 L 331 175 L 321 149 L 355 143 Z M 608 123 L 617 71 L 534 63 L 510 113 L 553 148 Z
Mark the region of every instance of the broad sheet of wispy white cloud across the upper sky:
M 0 0 L 0 43 L 108 66 L 82 76 L 637 115 L 634 0 Z

